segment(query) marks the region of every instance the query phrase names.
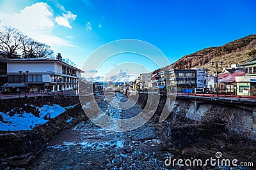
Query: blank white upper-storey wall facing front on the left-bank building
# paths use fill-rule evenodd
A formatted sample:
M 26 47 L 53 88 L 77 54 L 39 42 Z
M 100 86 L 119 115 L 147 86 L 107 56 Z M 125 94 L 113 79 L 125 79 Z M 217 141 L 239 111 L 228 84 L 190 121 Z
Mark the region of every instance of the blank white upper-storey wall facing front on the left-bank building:
M 7 63 L 7 73 L 19 73 L 26 71 L 29 73 L 54 72 L 54 62 L 9 62 Z

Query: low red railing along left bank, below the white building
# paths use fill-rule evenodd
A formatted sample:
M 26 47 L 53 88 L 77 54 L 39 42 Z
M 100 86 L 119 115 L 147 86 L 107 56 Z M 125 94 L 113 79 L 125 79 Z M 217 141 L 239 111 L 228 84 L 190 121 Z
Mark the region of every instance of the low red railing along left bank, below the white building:
M 19 93 L 19 94 L 0 94 L 0 100 L 20 99 L 23 97 L 42 97 L 42 96 L 78 96 L 78 94 L 68 92 L 40 92 L 40 93 Z

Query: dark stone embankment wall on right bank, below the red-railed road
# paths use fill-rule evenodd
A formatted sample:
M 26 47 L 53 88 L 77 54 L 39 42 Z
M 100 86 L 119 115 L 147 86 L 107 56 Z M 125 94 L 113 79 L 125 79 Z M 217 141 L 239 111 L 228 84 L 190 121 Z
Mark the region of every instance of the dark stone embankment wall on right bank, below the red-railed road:
M 138 104 L 145 106 L 148 94 L 138 95 Z M 163 110 L 168 110 L 168 117 L 159 122 Z M 175 159 L 206 160 L 221 152 L 225 159 L 256 163 L 253 111 L 248 108 L 215 103 L 196 106 L 189 99 L 161 96 L 151 120 L 159 129 L 163 149 L 173 153 Z

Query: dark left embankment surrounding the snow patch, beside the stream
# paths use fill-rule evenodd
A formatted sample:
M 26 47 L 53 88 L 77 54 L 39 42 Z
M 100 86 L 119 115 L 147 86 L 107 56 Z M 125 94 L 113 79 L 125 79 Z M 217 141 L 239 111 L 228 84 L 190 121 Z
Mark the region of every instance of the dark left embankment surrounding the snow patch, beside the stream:
M 26 164 L 37 153 L 44 150 L 47 143 L 63 129 L 68 129 L 79 122 L 86 120 L 83 108 L 77 96 L 47 96 L 29 99 L 12 99 L 0 101 L 0 111 L 6 113 L 12 110 L 13 114 L 21 111 L 38 116 L 36 107 L 59 104 L 68 107 L 64 113 L 55 118 L 49 118 L 45 124 L 38 125 L 30 131 L 0 132 L 0 169 L 4 166 Z M 9 113 L 10 114 L 10 113 Z M 71 118 L 71 119 L 70 119 Z M 70 121 L 67 121 L 70 120 Z M 24 122 L 26 124 L 26 122 Z

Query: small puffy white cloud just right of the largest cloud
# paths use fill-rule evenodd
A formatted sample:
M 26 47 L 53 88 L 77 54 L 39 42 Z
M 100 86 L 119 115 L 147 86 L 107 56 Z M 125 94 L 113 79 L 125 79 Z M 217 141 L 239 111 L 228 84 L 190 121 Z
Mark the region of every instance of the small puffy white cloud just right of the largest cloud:
M 65 9 L 63 7 L 63 9 Z M 67 13 L 62 13 L 62 17 L 58 15 L 55 17 L 55 21 L 57 24 L 62 25 L 64 27 L 68 27 L 69 29 L 72 29 L 70 23 L 76 20 L 77 15 L 74 15 L 72 12 L 67 11 Z

